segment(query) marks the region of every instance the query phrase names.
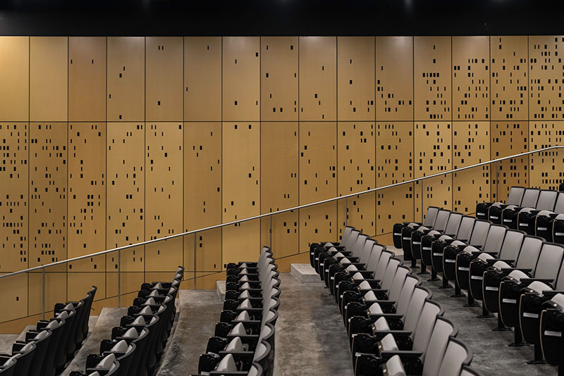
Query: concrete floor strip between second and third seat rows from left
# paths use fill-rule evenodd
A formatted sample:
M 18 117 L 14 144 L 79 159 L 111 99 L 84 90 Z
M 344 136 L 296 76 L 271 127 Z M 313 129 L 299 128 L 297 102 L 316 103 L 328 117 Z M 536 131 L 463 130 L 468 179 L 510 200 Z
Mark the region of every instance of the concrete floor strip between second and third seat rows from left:
M 180 314 L 157 376 L 194 375 L 223 304 L 216 290 L 180 290 Z

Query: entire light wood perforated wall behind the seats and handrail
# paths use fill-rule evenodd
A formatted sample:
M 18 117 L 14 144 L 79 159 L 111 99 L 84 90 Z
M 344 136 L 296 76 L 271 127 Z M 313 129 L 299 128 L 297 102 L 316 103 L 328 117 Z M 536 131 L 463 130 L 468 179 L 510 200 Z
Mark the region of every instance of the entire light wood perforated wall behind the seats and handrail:
M 0 37 L 0 272 L 277 211 L 562 144 L 561 36 Z M 558 153 L 499 165 L 556 187 Z M 552 166 L 555 168 L 552 168 Z M 281 265 L 345 223 L 389 240 L 422 207 L 497 199 L 484 167 L 347 203 L 121 252 L 122 292 L 185 265 L 212 288 L 270 237 Z M 283 259 L 282 259 L 283 258 Z M 284 263 L 283 260 L 288 261 Z M 99 287 L 118 255 L 47 270 L 46 305 Z M 41 311 L 41 273 L 3 280 Z M 6 286 L 6 287 L 4 287 Z

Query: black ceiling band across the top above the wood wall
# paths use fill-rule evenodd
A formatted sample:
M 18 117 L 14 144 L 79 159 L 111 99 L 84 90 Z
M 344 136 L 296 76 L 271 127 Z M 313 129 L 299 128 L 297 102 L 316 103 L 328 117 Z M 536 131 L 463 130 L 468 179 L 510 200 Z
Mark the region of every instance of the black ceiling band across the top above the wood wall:
M 0 0 L 0 35 L 562 35 L 562 0 Z

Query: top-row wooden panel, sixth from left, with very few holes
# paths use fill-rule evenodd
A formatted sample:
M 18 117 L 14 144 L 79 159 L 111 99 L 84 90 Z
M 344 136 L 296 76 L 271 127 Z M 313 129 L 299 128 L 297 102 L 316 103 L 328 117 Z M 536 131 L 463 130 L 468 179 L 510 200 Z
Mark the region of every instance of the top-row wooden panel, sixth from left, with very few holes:
M 184 38 L 184 120 L 221 121 L 221 37 Z

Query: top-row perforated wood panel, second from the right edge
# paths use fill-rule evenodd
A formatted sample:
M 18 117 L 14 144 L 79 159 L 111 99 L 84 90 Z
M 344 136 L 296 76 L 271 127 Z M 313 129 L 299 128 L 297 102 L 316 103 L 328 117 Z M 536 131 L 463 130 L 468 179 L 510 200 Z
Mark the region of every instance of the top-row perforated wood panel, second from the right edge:
M 490 38 L 491 120 L 527 120 L 527 37 Z

